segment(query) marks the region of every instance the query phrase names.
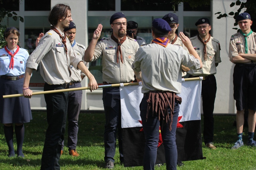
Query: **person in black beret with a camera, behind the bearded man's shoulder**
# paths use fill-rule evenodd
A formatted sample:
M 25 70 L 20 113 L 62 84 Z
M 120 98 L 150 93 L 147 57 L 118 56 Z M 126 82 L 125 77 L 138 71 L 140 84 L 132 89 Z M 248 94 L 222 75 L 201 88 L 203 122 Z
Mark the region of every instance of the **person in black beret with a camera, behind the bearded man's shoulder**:
M 126 32 L 129 34 L 132 34 L 132 35 L 126 34 L 126 36 L 136 39 L 136 41 L 138 42 L 138 44 L 140 46 L 147 45 L 146 40 L 137 35 L 137 31 L 138 31 L 138 23 L 135 21 L 128 21 L 127 27 L 126 27 Z

